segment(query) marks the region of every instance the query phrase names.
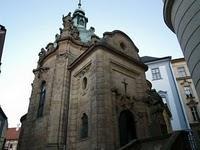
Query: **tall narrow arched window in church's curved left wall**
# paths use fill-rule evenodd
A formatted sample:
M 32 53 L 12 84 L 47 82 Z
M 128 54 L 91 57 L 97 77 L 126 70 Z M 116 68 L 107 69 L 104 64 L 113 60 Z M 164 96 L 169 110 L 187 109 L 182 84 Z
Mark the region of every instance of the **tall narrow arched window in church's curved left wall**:
M 46 97 L 46 82 L 42 81 L 42 84 L 40 86 L 40 101 L 39 101 L 39 106 L 38 106 L 37 117 L 43 116 L 45 97 Z

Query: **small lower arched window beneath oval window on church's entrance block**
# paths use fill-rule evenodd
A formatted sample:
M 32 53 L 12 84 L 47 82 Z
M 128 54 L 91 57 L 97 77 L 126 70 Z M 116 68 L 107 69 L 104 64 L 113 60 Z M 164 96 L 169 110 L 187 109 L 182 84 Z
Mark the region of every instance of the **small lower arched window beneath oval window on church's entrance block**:
M 80 138 L 87 138 L 88 137 L 88 116 L 83 113 L 81 117 L 81 132 Z

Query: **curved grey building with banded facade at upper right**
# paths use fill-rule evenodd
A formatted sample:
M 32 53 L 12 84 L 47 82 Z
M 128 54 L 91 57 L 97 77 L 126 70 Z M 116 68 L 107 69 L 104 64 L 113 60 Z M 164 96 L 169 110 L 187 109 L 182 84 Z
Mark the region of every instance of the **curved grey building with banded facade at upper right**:
M 163 0 L 164 20 L 176 34 L 200 97 L 200 0 Z

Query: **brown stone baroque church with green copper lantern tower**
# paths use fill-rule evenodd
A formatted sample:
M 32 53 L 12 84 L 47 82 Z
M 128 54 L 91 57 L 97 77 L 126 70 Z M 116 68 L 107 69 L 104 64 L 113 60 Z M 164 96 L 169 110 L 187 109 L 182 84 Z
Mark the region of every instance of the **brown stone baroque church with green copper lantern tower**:
M 122 31 L 102 38 L 79 8 L 39 53 L 20 150 L 116 150 L 134 139 L 168 133 L 162 100 L 147 66 Z

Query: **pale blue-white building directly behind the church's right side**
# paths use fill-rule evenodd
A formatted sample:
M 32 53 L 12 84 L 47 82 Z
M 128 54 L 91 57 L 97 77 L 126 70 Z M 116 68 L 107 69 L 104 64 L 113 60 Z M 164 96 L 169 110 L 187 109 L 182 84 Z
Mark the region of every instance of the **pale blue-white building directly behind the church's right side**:
M 171 124 L 173 130 L 189 129 L 188 121 L 182 107 L 182 100 L 174 78 L 171 57 L 155 58 L 144 56 L 141 60 L 148 66 L 147 79 L 157 90 L 171 111 Z

